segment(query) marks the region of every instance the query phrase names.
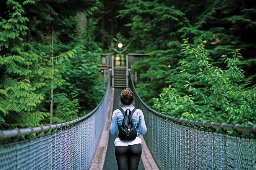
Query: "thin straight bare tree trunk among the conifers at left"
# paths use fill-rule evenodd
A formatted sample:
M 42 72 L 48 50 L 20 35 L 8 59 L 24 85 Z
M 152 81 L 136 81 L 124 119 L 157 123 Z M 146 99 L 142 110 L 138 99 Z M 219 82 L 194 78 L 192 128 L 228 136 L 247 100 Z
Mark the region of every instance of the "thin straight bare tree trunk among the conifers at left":
M 52 72 L 51 72 L 51 75 L 52 75 L 52 79 L 51 79 L 51 104 L 50 104 L 50 114 L 51 114 L 51 116 L 50 116 L 50 125 L 52 124 L 52 117 L 53 117 L 53 76 L 54 76 L 54 74 L 53 74 L 53 69 L 54 69 L 54 63 L 53 63 L 53 59 L 54 59 L 54 56 L 53 56 L 53 31 L 54 31 L 54 21 L 52 21 L 52 37 L 51 37 L 51 44 L 52 44 L 52 52 L 51 52 L 51 63 L 52 63 Z

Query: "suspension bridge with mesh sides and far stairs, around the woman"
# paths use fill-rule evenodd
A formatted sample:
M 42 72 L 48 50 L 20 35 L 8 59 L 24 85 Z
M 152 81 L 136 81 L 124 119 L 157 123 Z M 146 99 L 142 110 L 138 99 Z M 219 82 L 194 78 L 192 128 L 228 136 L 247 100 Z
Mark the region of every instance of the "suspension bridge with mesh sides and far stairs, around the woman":
M 134 91 L 135 107 L 143 111 L 148 129 L 142 137 L 140 170 L 256 169 L 256 125 L 183 120 L 154 111 L 140 99 L 134 87 L 135 76 L 129 72 L 134 56 L 126 56 L 126 66 L 117 66 L 124 63 L 121 58 L 102 55 L 107 88 L 99 105 L 89 114 L 53 125 L 0 130 L 0 139 L 37 134 L 35 138 L 1 145 L 0 170 L 117 169 L 109 125 L 113 110 L 118 108 L 120 91 L 126 87 Z M 228 135 L 227 130 L 254 136 Z

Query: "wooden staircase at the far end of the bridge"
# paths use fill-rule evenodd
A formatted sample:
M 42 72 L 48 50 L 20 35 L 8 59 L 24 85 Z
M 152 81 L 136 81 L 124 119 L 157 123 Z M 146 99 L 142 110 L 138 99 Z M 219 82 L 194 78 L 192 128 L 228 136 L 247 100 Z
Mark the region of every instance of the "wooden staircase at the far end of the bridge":
M 114 67 L 114 87 L 126 88 L 126 67 Z

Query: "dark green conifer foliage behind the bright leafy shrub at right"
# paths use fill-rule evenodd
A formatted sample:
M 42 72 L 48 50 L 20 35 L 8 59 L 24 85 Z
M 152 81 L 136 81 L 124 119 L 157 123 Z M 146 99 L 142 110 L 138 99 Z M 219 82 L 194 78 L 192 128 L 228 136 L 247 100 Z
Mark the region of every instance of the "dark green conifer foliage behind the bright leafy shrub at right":
M 181 40 L 187 37 L 192 45 L 205 40 L 212 55 L 210 62 L 220 68 L 225 67 L 222 54 L 241 49 L 245 59 L 238 64 L 250 79 L 247 87 L 256 83 L 256 8 L 252 1 L 122 0 L 122 4 L 125 9 L 118 12 L 119 18 L 127 22 L 129 34 L 122 35 L 129 38 L 128 50 L 150 55 L 132 68 L 138 74 L 137 91 L 147 104 L 151 105 L 152 97 L 170 84 L 177 94 L 186 95 L 179 88 L 186 84 L 179 75 L 184 65 L 178 63 L 183 59 Z

